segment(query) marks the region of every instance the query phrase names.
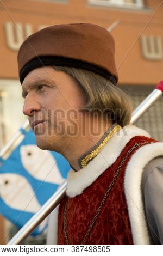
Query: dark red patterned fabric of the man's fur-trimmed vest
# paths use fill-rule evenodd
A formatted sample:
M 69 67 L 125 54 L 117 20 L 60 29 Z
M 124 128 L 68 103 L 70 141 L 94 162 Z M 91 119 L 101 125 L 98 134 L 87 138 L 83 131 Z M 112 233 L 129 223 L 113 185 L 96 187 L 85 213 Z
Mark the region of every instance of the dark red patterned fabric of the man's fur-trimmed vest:
M 67 245 L 64 233 L 64 209 L 67 205 L 67 233 L 70 245 L 81 245 L 89 225 L 114 178 L 118 166 L 135 143 L 156 142 L 155 139 L 135 136 L 126 144 L 117 160 L 106 169 L 82 194 L 61 200 L 58 214 L 58 245 Z M 142 146 L 139 146 L 142 147 Z M 137 149 L 137 148 L 136 148 Z M 120 173 L 93 224 L 84 245 L 133 245 L 129 215 L 124 194 L 124 172 L 134 149 L 124 162 Z

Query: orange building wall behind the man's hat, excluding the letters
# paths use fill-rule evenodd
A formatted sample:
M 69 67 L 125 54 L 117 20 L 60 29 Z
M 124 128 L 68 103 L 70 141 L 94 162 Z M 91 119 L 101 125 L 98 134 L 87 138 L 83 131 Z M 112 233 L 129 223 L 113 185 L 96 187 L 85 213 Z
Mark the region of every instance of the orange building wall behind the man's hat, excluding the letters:
M 155 84 L 161 80 L 162 60 L 151 61 L 142 57 L 139 36 L 161 35 L 163 41 L 163 4 L 146 1 L 146 10 L 134 11 L 88 5 L 86 0 L 67 0 L 67 3 L 40 1 L 2 1 L 0 8 L 0 77 L 18 78 L 17 51 L 11 51 L 6 42 L 4 23 L 32 24 L 33 32 L 40 25 L 90 22 L 108 28 L 115 20 L 120 24 L 111 32 L 116 44 L 116 64 L 120 83 Z M 150 22 L 151 20 L 151 22 Z

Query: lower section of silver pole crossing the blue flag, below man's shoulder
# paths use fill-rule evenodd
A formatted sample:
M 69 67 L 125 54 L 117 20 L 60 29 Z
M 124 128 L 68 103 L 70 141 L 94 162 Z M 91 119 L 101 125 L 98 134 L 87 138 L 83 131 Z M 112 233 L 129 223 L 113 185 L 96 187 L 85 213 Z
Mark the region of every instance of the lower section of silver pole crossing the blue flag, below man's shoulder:
M 24 239 L 39 225 L 45 218 L 54 210 L 60 203 L 61 199 L 65 197 L 67 181 L 64 181 L 58 190 L 51 198 L 42 205 L 39 211 L 33 215 L 32 218 L 16 233 L 14 237 L 7 243 L 7 245 L 20 245 Z

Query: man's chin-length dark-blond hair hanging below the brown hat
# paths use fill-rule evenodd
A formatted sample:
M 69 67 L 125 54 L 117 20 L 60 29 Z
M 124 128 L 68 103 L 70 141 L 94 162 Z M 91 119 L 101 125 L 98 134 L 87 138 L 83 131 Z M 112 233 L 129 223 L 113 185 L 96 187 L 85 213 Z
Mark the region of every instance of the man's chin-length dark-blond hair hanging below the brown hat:
M 85 92 L 87 103 L 83 109 L 97 109 L 110 114 L 112 121 L 122 127 L 130 123 L 133 106 L 130 97 L 109 80 L 93 71 L 68 66 L 53 66 L 73 77 Z

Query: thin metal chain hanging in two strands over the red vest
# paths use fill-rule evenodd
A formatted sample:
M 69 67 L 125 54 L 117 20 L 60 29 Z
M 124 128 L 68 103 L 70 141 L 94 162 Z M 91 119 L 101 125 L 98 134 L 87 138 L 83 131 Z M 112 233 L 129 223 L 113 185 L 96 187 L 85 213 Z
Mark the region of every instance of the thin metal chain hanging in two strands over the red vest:
M 99 212 L 101 211 L 101 208 L 102 208 L 102 206 L 103 206 L 103 204 L 104 204 L 106 198 L 108 197 L 108 194 L 109 194 L 109 192 L 110 192 L 112 186 L 114 185 L 114 182 L 115 182 L 115 180 L 117 179 L 117 176 L 118 176 L 118 174 L 120 173 L 120 170 L 121 170 L 121 168 L 122 168 L 122 165 L 123 165 L 124 161 L 126 160 L 127 156 L 128 156 L 135 148 L 139 147 L 139 145 L 142 145 L 142 144 L 151 144 L 151 143 L 154 143 L 154 142 L 140 142 L 139 144 L 138 144 L 138 143 L 135 143 L 134 146 L 133 146 L 133 148 L 131 148 L 131 149 L 127 152 L 126 156 L 123 157 L 122 162 L 121 162 L 120 166 L 118 167 L 117 172 L 115 173 L 114 178 L 112 179 L 112 181 L 111 181 L 111 183 L 110 183 L 110 185 L 109 185 L 109 188 L 108 188 L 108 190 L 106 191 L 105 196 L 104 196 L 104 198 L 103 198 L 103 200 L 102 200 L 102 202 L 101 202 L 101 204 L 100 204 L 100 206 L 99 206 L 99 208 L 98 208 L 98 210 L 97 210 L 97 212 L 96 212 L 96 215 L 93 217 L 92 223 L 90 224 L 89 228 L 87 229 L 87 233 L 85 234 L 84 239 L 83 239 L 81 245 L 84 245 L 85 240 L 87 239 L 87 236 L 89 235 L 90 230 L 92 229 L 93 224 L 95 223 L 95 221 L 96 221 L 96 219 L 97 219 L 97 217 L 98 217 L 98 215 L 99 215 Z M 65 210 L 64 210 L 64 233 L 65 233 L 65 238 L 66 238 L 67 245 L 70 245 L 69 240 L 68 240 L 67 228 L 66 228 L 67 203 L 68 203 L 68 200 L 66 200 Z

